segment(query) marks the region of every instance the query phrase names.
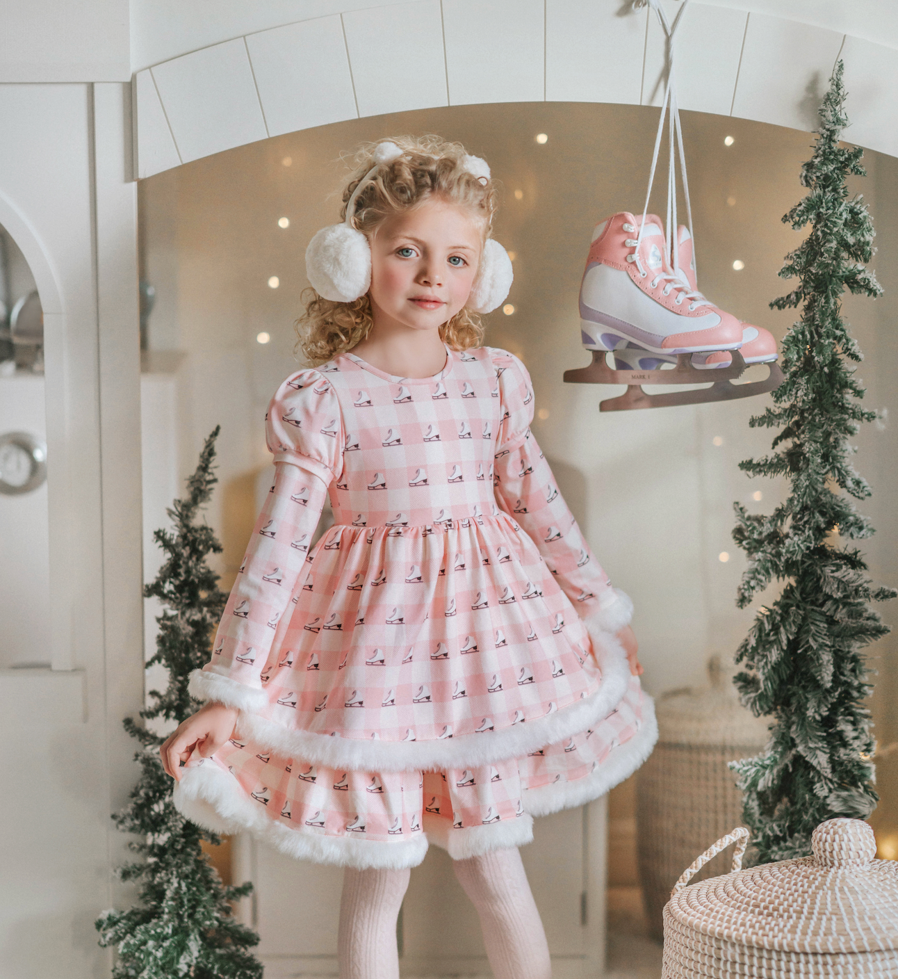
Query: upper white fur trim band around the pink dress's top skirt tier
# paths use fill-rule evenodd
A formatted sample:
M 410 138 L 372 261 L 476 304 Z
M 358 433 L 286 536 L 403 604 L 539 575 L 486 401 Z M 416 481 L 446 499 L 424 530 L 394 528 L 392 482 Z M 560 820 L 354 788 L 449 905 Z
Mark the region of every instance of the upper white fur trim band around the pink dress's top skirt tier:
M 620 643 L 607 632 L 591 635 L 602 669 L 602 684 L 591 697 L 561 711 L 500 730 L 464 734 L 442 741 L 369 741 L 291 730 L 241 711 L 238 735 L 253 744 L 310 765 L 356 771 L 429 771 L 488 765 L 520 758 L 556 744 L 602 721 L 627 691 L 630 668 Z

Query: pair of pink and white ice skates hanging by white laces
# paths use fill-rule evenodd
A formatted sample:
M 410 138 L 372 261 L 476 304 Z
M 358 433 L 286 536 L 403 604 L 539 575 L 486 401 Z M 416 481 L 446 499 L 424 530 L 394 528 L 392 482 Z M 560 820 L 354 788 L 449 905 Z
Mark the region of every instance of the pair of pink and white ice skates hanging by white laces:
M 698 292 L 693 216 L 686 156 L 677 106 L 674 35 L 685 0 L 673 24 L 658 0 L 647 0 L 667 36 L 667 80 L 651 157 L 649 189 L 642 216 L 620 211 L 598 224 L 580 286 L 580 332 L 593 353 L 588 367 L 564 372 L 575 384 L 626 385 L 607 398 L 601 411 L 659 408 L 702 401 L 761 395 L 783 381 L 777 345 L 761 327 L 743 323 Z M 668 122 L 667 214 L 665 226 L 650 214 L 655 167 Z M 675 148 L 676 147 L 676 151 Z M 679 157 L 689 227 L 677 224 L 676 161 Z M 607 354 L 614 354 L 614 368 Z M 766 363 L 764 381 L 732 382 L 749 364 Z M 673 366 L 668 366 L 673 365 Z M 696 385 L 699 390 L 650 395 L 643 385 Z

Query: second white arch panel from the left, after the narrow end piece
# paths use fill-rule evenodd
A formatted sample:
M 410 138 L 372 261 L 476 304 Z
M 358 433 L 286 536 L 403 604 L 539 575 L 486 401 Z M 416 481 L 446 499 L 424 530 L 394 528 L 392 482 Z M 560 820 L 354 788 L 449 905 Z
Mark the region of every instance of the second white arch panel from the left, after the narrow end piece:
M 242 37 L 157 65 L 153 75 L 184 163 L 268 135 Z

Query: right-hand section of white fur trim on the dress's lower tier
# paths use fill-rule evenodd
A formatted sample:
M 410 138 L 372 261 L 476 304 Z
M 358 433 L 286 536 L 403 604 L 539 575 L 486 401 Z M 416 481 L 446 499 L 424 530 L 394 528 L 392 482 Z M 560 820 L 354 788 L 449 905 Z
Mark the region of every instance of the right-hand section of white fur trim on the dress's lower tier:
M 658 725 L 654 717 L 654 704 L 651 697 L 644 693 L 643 723 L 636 734 L 614 748 L 599 768 L 585 778 L 526 789 L 523 793 L 526 811 L 533 816 L 549 816 L 604 796 L 615 785 L 629 778 L 646 761 L 657 739 Z

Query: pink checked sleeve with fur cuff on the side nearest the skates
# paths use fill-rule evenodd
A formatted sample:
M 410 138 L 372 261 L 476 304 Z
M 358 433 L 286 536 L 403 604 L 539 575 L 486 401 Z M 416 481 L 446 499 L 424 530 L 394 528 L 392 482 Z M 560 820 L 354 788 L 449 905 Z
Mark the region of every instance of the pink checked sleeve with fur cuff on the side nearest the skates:
M 611 587 L 530 431 L 534 398 L 527 368 L 507 350 L 490 352 L 501 410 L 493 469 L 497 503 L 533 539 L 587 626 L 616 632 L 630 622 L 632 602 Z

